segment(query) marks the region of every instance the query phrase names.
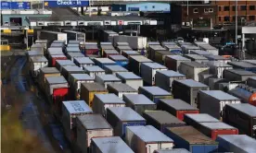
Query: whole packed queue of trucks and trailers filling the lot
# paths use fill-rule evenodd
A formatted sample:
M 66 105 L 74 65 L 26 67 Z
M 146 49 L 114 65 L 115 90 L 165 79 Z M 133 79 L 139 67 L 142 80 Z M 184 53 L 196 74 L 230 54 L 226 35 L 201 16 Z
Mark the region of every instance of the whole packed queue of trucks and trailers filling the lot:
M 256 152 L 251 60 L 236 66 L 202 51 L 204 42 L 148 42 L 144 56 L 115 37 L 99 44 L 39 39 L 28 51 L 30 72 L 76 150 Z

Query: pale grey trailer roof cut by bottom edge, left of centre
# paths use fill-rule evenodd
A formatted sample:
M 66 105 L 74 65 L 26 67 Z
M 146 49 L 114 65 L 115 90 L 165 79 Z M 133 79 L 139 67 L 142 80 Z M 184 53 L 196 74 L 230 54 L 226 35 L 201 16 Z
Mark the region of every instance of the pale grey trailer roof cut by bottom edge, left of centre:
M 104 153 L 134 153 L 120 136 L 97 137 L 92 138 L 92 141 Z

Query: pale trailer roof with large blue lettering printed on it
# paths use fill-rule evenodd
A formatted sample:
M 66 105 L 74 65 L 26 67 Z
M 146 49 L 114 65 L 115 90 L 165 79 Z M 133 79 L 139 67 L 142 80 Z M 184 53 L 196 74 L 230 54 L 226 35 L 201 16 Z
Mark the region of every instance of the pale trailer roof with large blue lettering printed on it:
M 91 108 L 85 103 L 84 100 L 69 100 L 62 101 L 64 107 L 70 112 L 74 113 L 93 113 Z

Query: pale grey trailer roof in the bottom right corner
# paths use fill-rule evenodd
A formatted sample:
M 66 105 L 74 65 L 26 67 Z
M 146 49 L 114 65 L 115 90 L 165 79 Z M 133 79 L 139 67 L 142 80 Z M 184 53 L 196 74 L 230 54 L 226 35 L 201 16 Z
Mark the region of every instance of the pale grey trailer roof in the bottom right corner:
M 229 146 L 239 147 L 244 152 L 253 153 L 256 151 L 256 141 L 248 135 L 218 135 L 216 141 L 228 148 Z M 233 150 L 232 150 L 233 151 Z M 235 150 L 234 150 L 235 151 Z

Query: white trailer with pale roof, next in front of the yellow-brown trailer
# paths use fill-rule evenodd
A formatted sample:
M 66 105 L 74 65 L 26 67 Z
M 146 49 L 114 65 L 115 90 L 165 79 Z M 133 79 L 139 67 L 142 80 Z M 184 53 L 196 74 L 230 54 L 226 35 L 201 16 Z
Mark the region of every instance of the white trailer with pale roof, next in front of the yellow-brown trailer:
M 93 101 L 93 111 L 103 117 L 106 117 L 107 109 L 110 107 L 125 107 L 125 102 L 113 93 L 95 94 Z

